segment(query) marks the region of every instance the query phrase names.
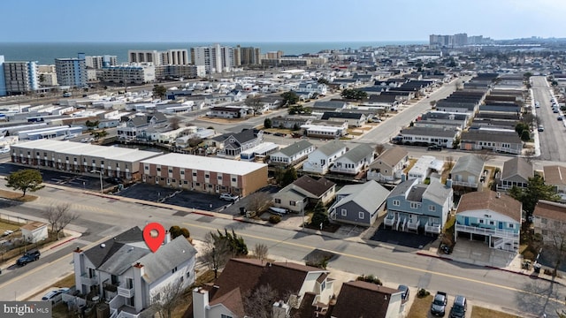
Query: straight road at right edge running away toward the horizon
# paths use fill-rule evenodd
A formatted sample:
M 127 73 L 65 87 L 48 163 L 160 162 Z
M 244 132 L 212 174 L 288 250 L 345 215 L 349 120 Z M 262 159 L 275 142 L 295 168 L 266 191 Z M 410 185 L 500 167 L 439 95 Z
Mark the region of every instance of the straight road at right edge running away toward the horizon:
M 564 122 L 557 120 L 562 116 L 562 111 L 557 114 L 552 110 L 552 88 L 548 86 L 544 76 L 532 77 L 532 95 L 535 102 L 539 102 L 539 109 L 536 109 L 539 124 L 545 128 L 544 132 L 539 132 L 540 140 L 540 160 L 549 160 L 564 163 L 566 162 L 566 148 L 563 141 L 566 138 L 566 127 Z

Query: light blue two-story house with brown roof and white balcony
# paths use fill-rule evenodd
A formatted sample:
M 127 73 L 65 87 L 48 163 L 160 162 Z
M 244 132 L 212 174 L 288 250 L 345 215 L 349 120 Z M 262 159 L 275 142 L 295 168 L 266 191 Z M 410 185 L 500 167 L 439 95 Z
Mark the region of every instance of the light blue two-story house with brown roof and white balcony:
M 491 248 L 516 253 L 522 207 L 505 193 L 466 193 L 456 211 L 455 240 L 479 240 Z

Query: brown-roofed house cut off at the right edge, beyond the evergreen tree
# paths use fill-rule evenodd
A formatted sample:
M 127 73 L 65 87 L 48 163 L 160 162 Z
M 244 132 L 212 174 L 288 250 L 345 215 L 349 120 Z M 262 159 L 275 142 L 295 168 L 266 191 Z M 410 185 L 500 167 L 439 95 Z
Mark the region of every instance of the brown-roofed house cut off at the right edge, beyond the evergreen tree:
M 534 232 L 542 236 L 544 243 L 554 244 L 566 232 L 566 205 L 540 200 L 532 213 Z M 558 240 L 560 242 L 560 240 Z

